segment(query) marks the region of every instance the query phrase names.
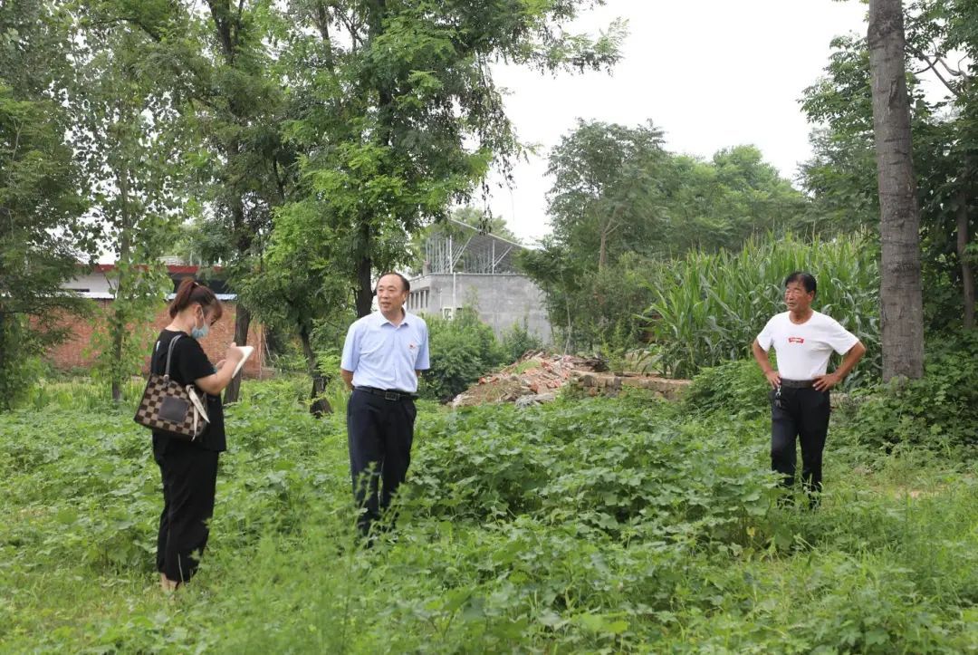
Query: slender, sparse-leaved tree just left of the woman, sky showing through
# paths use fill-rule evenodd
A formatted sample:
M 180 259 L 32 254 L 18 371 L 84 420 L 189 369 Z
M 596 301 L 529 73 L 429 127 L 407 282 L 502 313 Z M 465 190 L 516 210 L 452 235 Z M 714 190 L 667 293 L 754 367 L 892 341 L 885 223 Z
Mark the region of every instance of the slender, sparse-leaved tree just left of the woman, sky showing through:
M 145 31 L 111 18 L 113 0 L 90 3 L 72 35 L 76 83 L 68 95 L 75 118 L 75 157 L 87 173 L 90 217 L 103 228 L 115 257 L 107 276 L 112 303 L 97 317 L 96 370 L 121 398 L 121 384 L 138 373 L 154 319 L 170 290 L 159 257 L 179 221 L 181 147 L 178 113 L 156 80 L 159 46 Z

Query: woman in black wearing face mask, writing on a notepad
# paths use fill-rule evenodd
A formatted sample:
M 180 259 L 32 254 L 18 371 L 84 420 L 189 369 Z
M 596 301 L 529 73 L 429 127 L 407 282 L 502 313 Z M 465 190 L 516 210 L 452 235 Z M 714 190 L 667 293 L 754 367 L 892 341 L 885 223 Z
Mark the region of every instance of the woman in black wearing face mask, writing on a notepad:
M 207 522 L 214 512 L 217 455 L 226 449 L 224 412 L 220 393 L 231 382 L 242 351 L 234 344 L 215 367 L 200 347 L 210 326 L 221 317 L 221 303 L 207 287 L 188 278 L 180 283 L 170 304 L 172 321 L 154 346 L 156 373 L 166 366 L 166 352 L 173 346 L 170 379 L 193 384 L 206 398 L 209 425 L 194 442 L 154 430 L 153 454 L 163 479 L 163 512 L 156 541 L 156 569 L 164 590 L 189 581 L 197 572 L 197 557 L 207 543 Z

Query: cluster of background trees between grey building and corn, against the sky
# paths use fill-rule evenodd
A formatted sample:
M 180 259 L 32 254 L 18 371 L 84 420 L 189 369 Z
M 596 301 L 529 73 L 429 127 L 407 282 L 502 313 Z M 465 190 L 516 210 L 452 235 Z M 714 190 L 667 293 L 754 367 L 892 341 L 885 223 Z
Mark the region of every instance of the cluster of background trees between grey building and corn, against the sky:
M 806 224 L 805 197 L 756 148 L 705 162 L 676 155 L 650 121 L 578 121 L 551 153 L 550 172 L 554 234 L 520 265 L 546 292 L 571 351 L 642 344 L 648 288 L 672 258 L 737 250 L 752 235 Z

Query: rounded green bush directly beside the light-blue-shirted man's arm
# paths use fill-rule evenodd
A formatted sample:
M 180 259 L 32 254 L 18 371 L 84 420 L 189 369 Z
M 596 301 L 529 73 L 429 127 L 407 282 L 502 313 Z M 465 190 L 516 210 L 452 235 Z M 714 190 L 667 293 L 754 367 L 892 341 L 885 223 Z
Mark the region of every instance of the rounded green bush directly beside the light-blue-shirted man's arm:
M 422 376 L 424 398 L 449 400 L 503 363 L 492 328 L 468 307 L 455 318 L 426 316 L 431 368 Z

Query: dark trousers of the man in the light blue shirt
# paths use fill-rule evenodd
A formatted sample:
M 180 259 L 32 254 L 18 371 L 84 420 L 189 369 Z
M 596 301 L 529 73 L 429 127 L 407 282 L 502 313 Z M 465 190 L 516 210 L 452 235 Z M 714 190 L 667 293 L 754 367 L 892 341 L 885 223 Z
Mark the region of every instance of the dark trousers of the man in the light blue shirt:
M 415 416 L 410 398 L 387 400 L 354 390 L 346 404 L 353 497 L 363 510 L 357 527 L 364 535 L 407 476 Z

